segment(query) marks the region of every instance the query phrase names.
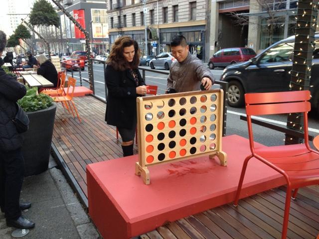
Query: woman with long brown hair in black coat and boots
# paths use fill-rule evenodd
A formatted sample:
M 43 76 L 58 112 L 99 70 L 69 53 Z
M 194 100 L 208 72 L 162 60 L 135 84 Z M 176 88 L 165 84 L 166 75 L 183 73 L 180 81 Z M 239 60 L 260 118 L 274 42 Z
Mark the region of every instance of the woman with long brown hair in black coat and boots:
M 123 156 L 133 155 L 137 124 L 136 98 L 147 92 L 139 64 L 138 43 L 129 36 L 118 38 L 112 46 L 105 71 L 109 92 L 105 120 L 117 126 L 122 138 Z

